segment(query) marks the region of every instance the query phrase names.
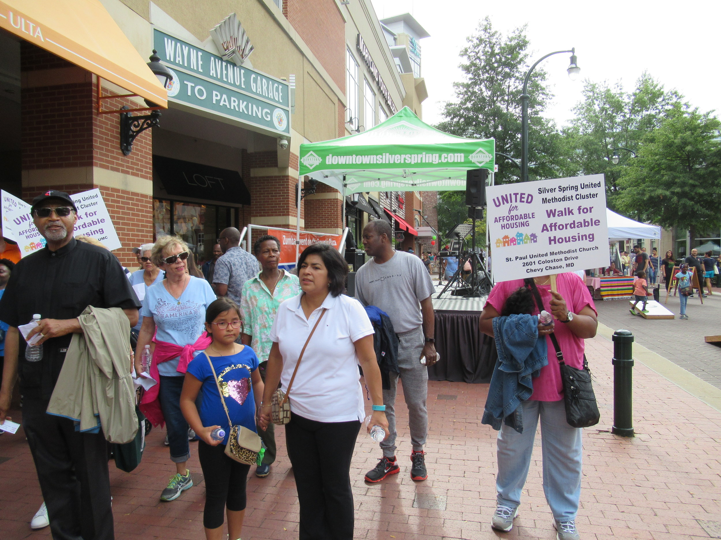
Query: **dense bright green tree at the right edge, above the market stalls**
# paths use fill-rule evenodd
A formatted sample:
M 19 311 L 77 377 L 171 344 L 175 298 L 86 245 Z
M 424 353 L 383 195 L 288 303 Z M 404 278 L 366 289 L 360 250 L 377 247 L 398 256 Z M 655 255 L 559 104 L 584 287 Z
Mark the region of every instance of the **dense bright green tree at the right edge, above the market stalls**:
M 721 123 L 676 104 L 619 179 L 622 212 L 664 228 L 721 228 Z

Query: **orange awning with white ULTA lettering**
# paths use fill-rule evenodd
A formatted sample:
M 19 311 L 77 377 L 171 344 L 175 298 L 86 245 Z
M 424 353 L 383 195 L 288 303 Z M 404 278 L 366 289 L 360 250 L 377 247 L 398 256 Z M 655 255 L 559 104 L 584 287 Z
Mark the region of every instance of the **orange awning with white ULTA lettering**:
M 168 107 L 167 91 L 99 0 L 0 0 L 0 28 Z

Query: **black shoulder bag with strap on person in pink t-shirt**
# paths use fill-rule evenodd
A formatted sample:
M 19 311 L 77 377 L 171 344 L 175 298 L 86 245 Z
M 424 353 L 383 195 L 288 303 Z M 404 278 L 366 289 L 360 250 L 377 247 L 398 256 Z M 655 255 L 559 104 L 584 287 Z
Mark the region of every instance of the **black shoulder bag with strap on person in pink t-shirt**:
M 539 313 L 544 309 L 541 301 L 541 294 L 536 287 L 533 279 L 526 279 L 526 286 L 531 289 L 534 295 Z M 583 369 L 567 366 L 563 360 L 563 353 L 558 345 L 558 340 L 554 334 L 549 334 L 551 342 L 556 349 L 556 357 L 561 370 L 561 379 L 563 381 L 563 401 L 566 406 L 566 422 L 574 428 L 588 428 L 596 426 L 598 420 L 601 419 L 601 413 L 598 412 L 598 404 L 596 403 L 596 395 L 593 393 L 593 384 L 591 384 L 590 371 L 588 371 L 588 361 L 585 354 L 583 355 Z

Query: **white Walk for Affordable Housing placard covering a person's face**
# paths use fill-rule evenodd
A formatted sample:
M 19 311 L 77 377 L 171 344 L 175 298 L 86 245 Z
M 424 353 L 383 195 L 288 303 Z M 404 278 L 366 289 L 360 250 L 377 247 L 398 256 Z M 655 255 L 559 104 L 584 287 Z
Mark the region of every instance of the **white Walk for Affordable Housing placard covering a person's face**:
M 486 188 L 497 282 L 606 266 L 603 174 Z

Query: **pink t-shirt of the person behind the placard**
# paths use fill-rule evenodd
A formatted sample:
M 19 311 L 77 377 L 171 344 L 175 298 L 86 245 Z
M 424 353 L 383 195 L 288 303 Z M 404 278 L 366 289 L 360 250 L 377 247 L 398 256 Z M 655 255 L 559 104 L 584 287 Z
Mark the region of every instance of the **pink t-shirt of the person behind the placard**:
M 523 279 L 513 279 L 510 282 L 500 282 L 493 287 L 491 294 L 488 295 L 487 303 L 495 307 L 497 312 L 503 310 L 505 299 L 510 293 L 523 287 Z M 537 285 L 541 301 L 544 309 L 551 312 L 550 300 L 551 286 Z M 596 312 L 596 306 L 593 305 L 593 298 L 590 297 L 588 287 L 580 279 L 580 277 L 572 272 L 558 274 L 556 279 L 556 287 L 558 293 L 566 301 L 566 307 L 574 313 L 580 312 L 587 305 Z M 538 315 L 539 311 L 534 309 L 533 315 Z M 598 315 L 598 314 L 597 314 Z M 583 338 L 575 336 L 569 330 L 568 326 L 559 320 L 554 320 L 554 334 L 558 341 L 558 345 L 563 352 L 563 359 L 567 365 L 581 369 L 583 368 Z M 563 382 L 561 380 L 561 371 L 556 358 L 556 350 L 549 336 L 546 336 L 548 345 L 548 365 L 541 368 L 541 374 L 534 378 L 534 393 L 528 399 L 537 401 L 558 401 L 563 399 Z

